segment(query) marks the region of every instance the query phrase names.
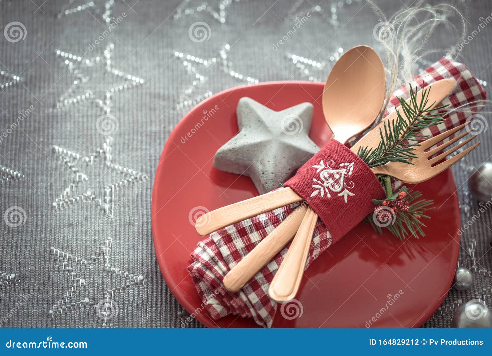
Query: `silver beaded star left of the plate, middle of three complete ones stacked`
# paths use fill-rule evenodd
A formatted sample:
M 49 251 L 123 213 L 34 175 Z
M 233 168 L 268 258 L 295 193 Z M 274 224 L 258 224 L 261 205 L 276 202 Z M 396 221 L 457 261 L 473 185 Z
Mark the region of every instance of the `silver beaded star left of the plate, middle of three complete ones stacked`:
M 82 156 L 63 147 L 53 146 L 53 151 L 58 155 L 60 161 L 73 174 L 72 183 L 53 201 L 52 205 L 55 210 L 72 206 L 78 202 L 92 202 L 104 211 L 108 217 L 112 218 L 115 210 L 116 191 L 119 188 L 144 182 L 149 178 L 145 173 L 114 163 L 112 141 L 113 139 L 111 137 L 107 138 L 102 148 L 96 150 L 96 153 L 91 156 Z M 96 195 L 91 190 L 83 192 L 79 184 L 88 181 L 88 176 L 79 171 L 79 168 L 76 166 L 77 162 L 84 162 L 86 166 L 90 166 L 94 162 L 103 162 L 107 168 L 120 173 L 123 178 L 115 183 L 102 187 L 104 191 L 103 196 Z

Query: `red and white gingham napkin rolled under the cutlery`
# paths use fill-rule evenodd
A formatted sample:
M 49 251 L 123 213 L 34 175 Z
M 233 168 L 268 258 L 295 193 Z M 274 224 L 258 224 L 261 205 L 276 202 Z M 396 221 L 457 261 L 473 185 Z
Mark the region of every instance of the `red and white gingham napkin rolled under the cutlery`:
M 480 110 L 479 103 L 474 102 L 486 98 L 484 88 L 480 86 L 465 65 L 450 62 L 445 58 L 415 77 L 411 85 L 412 88 L 417 86 L 417 90 L 420 90 L 424 85 L 427 86 L 443 78 L 455 78 L 458 82 L 455 91 L 441 103 L 449 105 L 446 110 L 450 113 L 446 115 L 444 123 L 424 130 L 423 133 L 426 135 L 434 136 L 463 124 L 467 117 Z M 394 111 L 396 105 L 399 105 L 397 97 L 408 97 L 408 90 L 408 85 L 405 85 L 393 93 L 384 116 Z M 467 103 L 471 104 L 465 110 L 453 111 Z M 355 140 L 351 140 L 350 144 L 354 142 Z M 399 182 L 393 183 L 394 186 L 400 185 Z M 292 204 L 255 216 L 216 231 L 198 243 L 198 247 L 191 255 L 192 263 L 188 271 L 213 319 L 216 320 L 228 314 L 239 314 L 243 318 L 253 318 L 257 324 L 264 327 L 272 326 L 277 303 L 268 297 L 267 292 L 278 266 L 287 253 L 288 246 L 258 272 L 241 291 L 229 293 L 224 288 L 222 280 L 226 273 L 277 227 L 294 208 L 295 205 Z M 329 231 L 318 219 L 309 248 L 306 268 L 332 242 Z

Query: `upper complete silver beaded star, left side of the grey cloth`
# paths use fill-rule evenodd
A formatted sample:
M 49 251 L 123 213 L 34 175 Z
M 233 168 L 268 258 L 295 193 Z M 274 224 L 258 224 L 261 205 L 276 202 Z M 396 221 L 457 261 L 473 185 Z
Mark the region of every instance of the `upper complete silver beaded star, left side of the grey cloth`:
M 62 108 L 68 105 L 79 104 L 86 100 L 92 100 L 95 105 L 103 110 L 105 114 L 109 114 L 112 106 L 112 97 L 115 93 L 123 92 L 127 89 L 142 85 L 144 80 L 138 76 L 125 73 L 113 66 L 111 55 L 113 53 L 114 44 L 110 43 L 102 56 L 92 58 L 84 58 L 85 56 L 73 53 L 56 50 L 56 55 L 63 61 L 68 70 L 73 73 L 75 79 L 70 87 L 62 94 L 57 103 L 57 108 Z M 114 78 L 117 82 L 111 82 L 111 87 L 104 92 L 104 99 L 98 97 L 92 89 L 82 90 L 85 83 L 91 79 L 87 75 L 86 70 L 97 70 L 106 75 L 105 79 Z M 101 83 L 102 84 L 102 83 Z

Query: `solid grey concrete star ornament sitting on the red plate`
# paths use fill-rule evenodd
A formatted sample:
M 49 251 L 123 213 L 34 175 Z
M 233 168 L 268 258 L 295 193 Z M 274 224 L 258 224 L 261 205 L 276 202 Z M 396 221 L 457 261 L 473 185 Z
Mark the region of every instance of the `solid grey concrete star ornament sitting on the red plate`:
M 260 194 L 278 188 L 319 151 L 308 137 L 312 111 L 308 102 L 274 111 L 249 97 L 241 98 L 240 131 L 218 149 L 215 168 L 249 176 Z

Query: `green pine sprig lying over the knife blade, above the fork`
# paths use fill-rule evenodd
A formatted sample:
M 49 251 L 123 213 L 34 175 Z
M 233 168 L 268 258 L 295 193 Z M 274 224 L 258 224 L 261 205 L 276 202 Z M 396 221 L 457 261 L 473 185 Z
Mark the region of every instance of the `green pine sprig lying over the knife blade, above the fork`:
M 415 88 L 417 89 L 417 88 Z M 440 113 L 428 114 L 432 105 L 429 104 L 429 89 L 423 89 L 422 97 L 418 101 L 417 93 L 410 87 L 410 102 L 398 98 L 401 111 L 397 111 L 397 118 L 385 122 L 379 129 L 381 141 L 376 148 L 360 147 L 357 155 L 369 165 L 377 167 L 388 162 L 404 162 L 412 164 L 409 160 L 418 158 L 413 152 L 419 142 L 428 136 L 422 134 L 423 129 L 438 125 L 443 122 Z M 439 106 L 432 110 L 441 110 L 448 105 Z

